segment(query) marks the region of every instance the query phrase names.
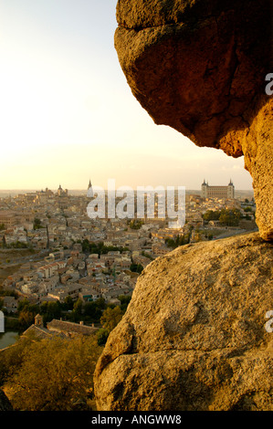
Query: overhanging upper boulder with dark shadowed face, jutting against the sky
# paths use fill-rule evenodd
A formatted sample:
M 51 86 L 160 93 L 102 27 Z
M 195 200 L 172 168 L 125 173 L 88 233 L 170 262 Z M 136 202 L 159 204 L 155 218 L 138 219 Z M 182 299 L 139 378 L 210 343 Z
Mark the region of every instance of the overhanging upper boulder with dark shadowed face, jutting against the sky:
M 155 123 L 245 155 L 260 235 L 272 240 L 272 1 L 119 0 L 117 20 L 115 47 L 133 95 Z

